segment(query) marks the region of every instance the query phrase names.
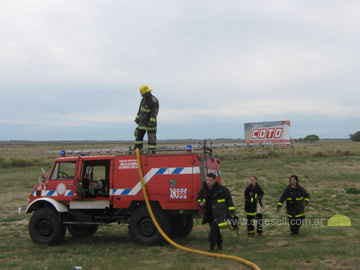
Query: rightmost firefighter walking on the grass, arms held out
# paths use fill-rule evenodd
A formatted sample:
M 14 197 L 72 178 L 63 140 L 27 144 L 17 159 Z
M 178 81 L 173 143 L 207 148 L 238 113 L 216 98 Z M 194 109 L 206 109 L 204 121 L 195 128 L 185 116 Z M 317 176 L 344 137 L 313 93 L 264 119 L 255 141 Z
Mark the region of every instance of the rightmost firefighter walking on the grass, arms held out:
M 299 234 L 300 226 L 305 219 L 305 206 L 310 202 L 309 193 L 299 185 L 299 178 L 292 175 L 289 178 L 290 184 L 284 189 L 277 205 L 279 211 L 284 201 L 289 217 L 291 235 Z

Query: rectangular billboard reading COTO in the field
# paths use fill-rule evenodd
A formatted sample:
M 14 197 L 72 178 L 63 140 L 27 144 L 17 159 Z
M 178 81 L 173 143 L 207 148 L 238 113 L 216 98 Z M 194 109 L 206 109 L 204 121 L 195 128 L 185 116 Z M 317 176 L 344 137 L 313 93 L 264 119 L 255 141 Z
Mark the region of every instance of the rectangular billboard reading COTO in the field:
M 291 144 L 290 121 L 245 123 L 245 143 Z

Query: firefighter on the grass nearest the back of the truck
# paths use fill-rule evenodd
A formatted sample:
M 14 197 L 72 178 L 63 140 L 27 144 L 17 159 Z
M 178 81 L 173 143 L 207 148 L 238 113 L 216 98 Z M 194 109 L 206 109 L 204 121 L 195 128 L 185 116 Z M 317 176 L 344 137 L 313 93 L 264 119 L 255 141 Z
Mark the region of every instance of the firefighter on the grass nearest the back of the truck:
M 206 183 L 203 185 L 197 196 L 197 202 L 204 208 L 202 224 L 209 223 L 210 251 L 222 250 L 222 236 L 220 228 L 227 226 L 227 219 L 235 217 L 235 207 L 230 191 L 223 185 L 216 182 L 213 173 L 207 174 Z

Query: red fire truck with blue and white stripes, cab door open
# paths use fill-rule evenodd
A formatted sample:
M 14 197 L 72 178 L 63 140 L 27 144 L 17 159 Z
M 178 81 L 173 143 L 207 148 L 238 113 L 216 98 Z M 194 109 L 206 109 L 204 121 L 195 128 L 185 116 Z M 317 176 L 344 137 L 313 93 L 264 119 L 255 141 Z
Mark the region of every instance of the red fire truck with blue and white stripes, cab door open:
M 219 159 L 211 152 L 141 155 L 142 170 L 154 214 L 170 237 L 184 238 L 199 216 L 196 196 L 213 172 L 221 182 Z M 91 236 L 104 223 L 128 224 L 131 239 L 154 245 L 163 238 L 155 228 L 141 191 L 136 155 L 65 156 L 55 159 L 48 177 L 29 193 L 25 213 L 31 239 L 56 245 L 66 230 Z

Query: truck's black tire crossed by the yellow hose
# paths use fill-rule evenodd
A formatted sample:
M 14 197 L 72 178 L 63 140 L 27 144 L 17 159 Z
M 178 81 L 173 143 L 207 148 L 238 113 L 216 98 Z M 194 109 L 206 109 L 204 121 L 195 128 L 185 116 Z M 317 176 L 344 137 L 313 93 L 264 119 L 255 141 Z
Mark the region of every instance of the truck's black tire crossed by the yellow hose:
M 169 235 L 171 226 L 168 216 L 158 206 L 152 206 L 152 210 L 162 230 Z M 152 222 L 145 205 L 137 208 L 131 215 L 129 234 L 135 243 L 143 245 L 163 244 L 165 241 Z

